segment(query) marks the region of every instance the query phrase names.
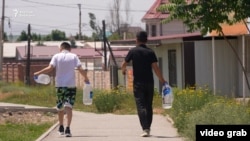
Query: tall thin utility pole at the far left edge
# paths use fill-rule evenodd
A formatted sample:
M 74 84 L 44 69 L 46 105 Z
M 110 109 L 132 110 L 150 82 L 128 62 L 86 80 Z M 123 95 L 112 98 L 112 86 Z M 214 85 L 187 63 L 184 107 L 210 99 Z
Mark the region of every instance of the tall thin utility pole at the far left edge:
M 0 33 L 0 81 L 3 80 L 3 42 L 4 42 L 4 11 L 5 0 L 2 4 L 1 33 Z

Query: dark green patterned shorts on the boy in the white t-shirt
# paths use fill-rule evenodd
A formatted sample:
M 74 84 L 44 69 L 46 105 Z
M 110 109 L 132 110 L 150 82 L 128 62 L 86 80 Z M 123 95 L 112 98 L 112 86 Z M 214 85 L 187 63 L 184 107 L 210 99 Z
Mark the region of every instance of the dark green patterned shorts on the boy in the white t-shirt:
M 64 107 L 72 108 L 75 103 L 76 97 L 76 87 L 68 88 L 68 87 L 57 87 L 56 88 L 57 95 L 57 110 L 63 110 Z

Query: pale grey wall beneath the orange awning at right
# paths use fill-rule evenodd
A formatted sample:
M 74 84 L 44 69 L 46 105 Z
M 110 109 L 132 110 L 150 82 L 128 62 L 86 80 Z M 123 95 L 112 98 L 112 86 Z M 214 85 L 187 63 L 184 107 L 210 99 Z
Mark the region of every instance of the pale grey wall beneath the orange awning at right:
M 236 47 L 237 40 L 230 40 Z M 213 88 L 212 41 L 195 42 L 195 71 L 198 86 Z M 238 91 L 238 65 L 225 40 L 215 40 L 216 93 L 235 96 Z

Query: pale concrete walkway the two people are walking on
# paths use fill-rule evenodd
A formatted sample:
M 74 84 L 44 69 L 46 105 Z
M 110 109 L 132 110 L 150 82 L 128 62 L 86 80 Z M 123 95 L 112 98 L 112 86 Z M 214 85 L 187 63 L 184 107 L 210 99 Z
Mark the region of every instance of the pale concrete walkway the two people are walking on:
M 0 106 L 12 104 L 0 103 Z M 14 104 L 13 106 L 18 106 Z M 26 108 L 36 106 L 22 105 Z M 154 115 L 150 137 L 140 137 L 142 129 L 137 115 L 94 114 L 73 111 L 72 137 L 60 136 L 58 123 L 37 141 L 183 141 L 172 123 L 162 115 Z

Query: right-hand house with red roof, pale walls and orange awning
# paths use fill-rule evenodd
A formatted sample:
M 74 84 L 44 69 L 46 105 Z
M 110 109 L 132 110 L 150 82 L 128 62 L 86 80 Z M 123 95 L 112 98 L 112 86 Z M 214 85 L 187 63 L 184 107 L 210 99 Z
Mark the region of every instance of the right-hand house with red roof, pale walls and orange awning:
M 250 79 L 250 36 L 242 23 L 222 25 L 230 44 L 215 32 L 202 36 L 188 33 L 182 21 L 162 24 L 168 13 L 156 11 L 167 0 L 155 0 L 142 17 L 149 34 L 148 46 L 158 56 L 163 76 L 171 86 L 185 88 L 208 87 L 214 93 L 230 97 L 249 97 L 250 92 L 240 61 Z M 248 25 L 249 26 L 249 25 Z M 131 44 L 133 40 L 113 41 L 114 44 Z M 239 56 L 240 61 L 237 59 Z M 161 90 L 156 76 L 155 88 Z

